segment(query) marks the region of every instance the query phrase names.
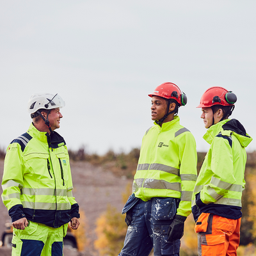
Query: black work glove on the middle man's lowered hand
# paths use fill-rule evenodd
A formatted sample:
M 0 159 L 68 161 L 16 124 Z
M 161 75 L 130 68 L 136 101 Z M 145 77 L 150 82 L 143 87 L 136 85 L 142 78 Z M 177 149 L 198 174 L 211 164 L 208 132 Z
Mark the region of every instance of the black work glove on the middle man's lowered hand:
M 184 221 L 187 217 L 176 215 L 168 230 L 168 241 L 174 242 L 184 234 Z

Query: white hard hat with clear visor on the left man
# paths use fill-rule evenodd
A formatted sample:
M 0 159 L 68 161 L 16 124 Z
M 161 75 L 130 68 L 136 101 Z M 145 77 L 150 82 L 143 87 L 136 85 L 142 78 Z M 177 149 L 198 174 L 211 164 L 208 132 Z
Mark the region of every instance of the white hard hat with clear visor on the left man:
M 65 101 L 58 95 L 51 93 L 34 93 L 28 102 L 28 112 L 35 113 L 38 109 L 54 109 L 65 107 Z

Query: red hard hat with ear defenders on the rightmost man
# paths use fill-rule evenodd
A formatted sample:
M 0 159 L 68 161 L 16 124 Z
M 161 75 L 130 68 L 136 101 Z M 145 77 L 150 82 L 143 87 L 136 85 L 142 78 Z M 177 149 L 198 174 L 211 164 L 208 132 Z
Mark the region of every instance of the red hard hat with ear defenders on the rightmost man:
M 209 108 L 214 105 L 232 106 L 236 100 L 236 94 L 228 92 L 225 88 L 214 86 L 204 92 L 196 108 Z

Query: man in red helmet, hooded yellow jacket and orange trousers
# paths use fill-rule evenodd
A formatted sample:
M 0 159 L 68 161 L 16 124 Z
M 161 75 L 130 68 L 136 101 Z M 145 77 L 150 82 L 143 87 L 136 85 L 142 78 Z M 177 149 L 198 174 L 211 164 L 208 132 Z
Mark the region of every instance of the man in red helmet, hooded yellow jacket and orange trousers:
M 252 138 L 236 119 L 236 95 L 211 87 L 203 95 L 201 118 L 211 145 L 196 180 L 192 212 L 198 234 L 198 255 L 237 255 L 241 224 L 241 196 L 244 189 L 245 147 Z

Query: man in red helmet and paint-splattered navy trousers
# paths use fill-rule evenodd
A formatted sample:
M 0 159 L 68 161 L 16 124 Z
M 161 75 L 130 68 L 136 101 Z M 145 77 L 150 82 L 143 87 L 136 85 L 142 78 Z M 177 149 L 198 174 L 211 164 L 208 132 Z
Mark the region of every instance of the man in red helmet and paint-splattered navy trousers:
M 120 256 L 179 256 L 184 221 L 191 213 L 196 180 L 196 144 L 179 124 L 186 95 L 173 83 L 157 86 L 152 98 L 154 125 L 143 136 L 132 195 L 122 213 L 128 225 Z

